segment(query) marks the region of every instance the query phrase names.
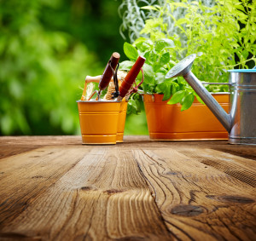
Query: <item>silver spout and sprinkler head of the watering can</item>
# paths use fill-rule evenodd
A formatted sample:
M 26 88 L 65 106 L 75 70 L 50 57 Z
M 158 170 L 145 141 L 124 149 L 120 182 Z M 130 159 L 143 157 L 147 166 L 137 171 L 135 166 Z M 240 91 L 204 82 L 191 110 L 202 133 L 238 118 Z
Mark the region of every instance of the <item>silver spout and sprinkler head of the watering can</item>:
M 232 118 L 230 117 L 230 114 L 227 114 L 227 112 L 224 111 L 222 106 L 218 104 L 218 101 L 212 97 L 212 95 L 202 85 L 201 81 L 195 77 L 193 72 L 190 71 L 195 57 L 196 55 L 189 55 L 181 60 L 166 74 L 166 78 L 183 76 L 195 90 L 196 94 L 200 96 L 201 100 L 205 102 L 216 118 L 218 118 L 219 122 L 222 123 L 224 128 L 230 133 L 232 127 Z

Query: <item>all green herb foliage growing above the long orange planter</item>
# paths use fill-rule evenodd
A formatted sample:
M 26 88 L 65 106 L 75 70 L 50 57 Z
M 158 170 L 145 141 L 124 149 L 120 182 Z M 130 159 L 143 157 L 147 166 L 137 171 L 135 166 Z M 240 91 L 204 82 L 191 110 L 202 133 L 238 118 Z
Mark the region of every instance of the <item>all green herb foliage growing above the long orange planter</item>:
M 143 9 L 157 12 L 156 17 L 146 20 L 140 32 L 144 37 L 138 37 L 132 45 L 125 43 L 124 51 L 130 61 L 137 55 L 146 57 L 143 67 L 145 93 L 164 94 L 163 100 L 172 95 L 168 103 L 179 102 L 182 110 L 191 106 L 195 96 L 201 101 L 183 77 L 165 79 L 166 72 L 186 55 L 197 54 L 192 71 L 207 82 L 226 83 L 228 69 L 255 65 L 255 4 L 247 0 L 218 0 L 212 6 L 201 1 L 177 3 L 166 0 L 163 6 Z M 173 13 L 177 9 L 183 9 L 184 14 L 176 18 Z M 170 19 L 176 28 L 173 35 L 169 31 Z M 160 43 L 166 44 L 164 48 L 158 48 Z M 123 62 L 120 67 L 128 70 L 130 61 Z M 206 87 L 211 92 L 228 90 L 224 85 Z

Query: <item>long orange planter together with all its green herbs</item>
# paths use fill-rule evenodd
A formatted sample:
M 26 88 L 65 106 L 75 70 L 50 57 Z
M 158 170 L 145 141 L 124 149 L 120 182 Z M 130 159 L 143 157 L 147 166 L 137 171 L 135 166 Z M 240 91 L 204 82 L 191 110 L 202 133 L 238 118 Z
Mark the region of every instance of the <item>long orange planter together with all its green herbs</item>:
M 120 68 L 129 70 L 137 55 L 147 59 L 143 99 L 151 139 L 219 140 L 228 137 L 183 77 L 166 79 L 165 76 L 178 60 L 194 53 L 198 58 L 193 72 L 206 82 L 226 83 L 227 69 L 237 66 L 248 68 L 252 61 L 255 63 L 255 37 L 247 36 L 256 28 L 253 21 L 255 7 L 247 1 L 236 1 L 235 5 L 233 2 L 228 0 L 223 5 L 221 1 L 216 1 L 214 6 L 208 7 L 195 1 L 166 1 L 163 7 L 143 8 L 159 14 L 146 20 L 141 31 L 144 37 L 138 37 L 132 45 L 124 44 L 125 55 L 130 60 L 124 61 Z M 172 15 L 177 8 L 186 12 L 183 18 L 175 19 Z M 168 32 L 168 16 L 172 17 L 179 35 L 172 36 Z M 241 23 L 246 25 L 243 29 Z M 229 96 L 225 94 L 228 86 L 206 87 L 209 91 L 218 92 L 213 97 L 228 111 Z M 131 111 L 137 111 L 137 98 L 136 95 L 131 97 Z

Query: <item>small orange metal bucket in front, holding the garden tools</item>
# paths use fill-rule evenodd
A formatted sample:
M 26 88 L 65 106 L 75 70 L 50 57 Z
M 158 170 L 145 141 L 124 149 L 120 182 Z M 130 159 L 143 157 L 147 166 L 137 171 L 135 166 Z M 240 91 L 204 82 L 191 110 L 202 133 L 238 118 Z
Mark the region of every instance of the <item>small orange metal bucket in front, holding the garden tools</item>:
M 109 100 L 77 102 L 82 143 L 116 144 L 121 102 Z

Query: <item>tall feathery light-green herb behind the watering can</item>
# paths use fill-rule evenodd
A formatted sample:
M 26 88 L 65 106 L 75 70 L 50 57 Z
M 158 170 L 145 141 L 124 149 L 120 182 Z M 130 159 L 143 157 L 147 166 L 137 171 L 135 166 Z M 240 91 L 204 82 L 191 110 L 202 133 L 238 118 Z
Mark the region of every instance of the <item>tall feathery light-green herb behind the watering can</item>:
M 256 4 L 249 0 L 217 0 L 213 6 L 201 1 L 182 3 L 166 0 L 163 6 L 145 7 L 160 15 L 146 20 L 141 34 L 150 39 L 171 38 L 177 59 L 197 54 L 193 72 L 207 82 L 227 82 L 228 69 L 249 68 L 256 63 Z M 183 9 L 183 17 L 172 13 Z M 170 35 L 166 16 L 172 19 L 178 34 Z M 222 90 L 217 87 L 217 91 Z M 213 90 L 213 89 L 211 89 Z

